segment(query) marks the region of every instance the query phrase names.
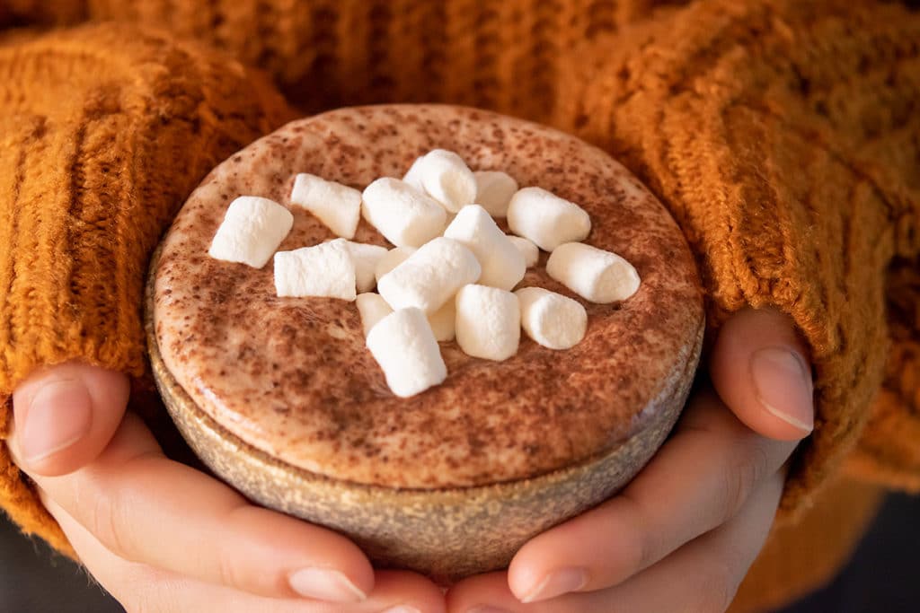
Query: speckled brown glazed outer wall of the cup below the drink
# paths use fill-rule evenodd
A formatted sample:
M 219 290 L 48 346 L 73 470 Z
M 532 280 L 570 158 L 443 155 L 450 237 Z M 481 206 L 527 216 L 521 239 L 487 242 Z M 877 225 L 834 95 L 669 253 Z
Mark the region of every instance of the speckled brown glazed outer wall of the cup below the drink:
M 702 334 L 695 340 L 688 348 L 696 355 Z M 377 567 L 411 569 L 443 585 L 507 567 L 529 539 L 622 489 L 671 431 L 696 365 L 690 359 L 683 371 L 674 371 L 647 405 L 637 434 L 598 458 L 532 479 L 419 490 L 329 479 L 254 448 L 178 385 L 160 358 L 152 326 L 148 342 L 169 414 L 214 474 L 259 505 L 348 535 Z

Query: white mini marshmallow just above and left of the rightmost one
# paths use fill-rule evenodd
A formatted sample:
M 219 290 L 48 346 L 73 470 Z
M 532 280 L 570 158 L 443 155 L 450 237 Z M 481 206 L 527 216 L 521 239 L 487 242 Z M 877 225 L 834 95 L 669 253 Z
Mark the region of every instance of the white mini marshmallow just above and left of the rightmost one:
M 546 189 L 524 187 L 508 205 L 508 226 L 544 251 L 553 251 L 560 244 L 587 238 L 591 218 L 574 202 Z

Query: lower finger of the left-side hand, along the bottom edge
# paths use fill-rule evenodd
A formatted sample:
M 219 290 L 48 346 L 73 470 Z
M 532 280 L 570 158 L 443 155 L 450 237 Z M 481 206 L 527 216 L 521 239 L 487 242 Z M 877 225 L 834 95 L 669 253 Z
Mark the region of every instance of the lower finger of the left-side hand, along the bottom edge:
M 220 585 L 204 584 L 176 573 L 121 559 L 106 549 L 61 506 L 47 497 L 43 500 L 70 539 L 75 551 L 79 553 L 86 569 L 128 611 L 440 613 L 444 610 L 441 591 L 431 582 L 413 573 L 379 573 L 374 591 L 367 600 L 348 605 L 303 599 L 265 598 Z

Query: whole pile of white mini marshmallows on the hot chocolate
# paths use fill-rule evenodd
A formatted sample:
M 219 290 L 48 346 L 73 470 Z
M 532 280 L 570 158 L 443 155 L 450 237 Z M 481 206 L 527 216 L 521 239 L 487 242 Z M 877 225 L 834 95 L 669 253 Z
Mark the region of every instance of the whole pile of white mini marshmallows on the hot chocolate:
M 581 341 L 588 324 L 581 303 L 542 288 L 512 292 L 538 262 L 538 248 L 551 253 L 549 276 L 588 301 L 622 301 L 638 289 L 626 260 L 579 242 L 591 219 L 577 204 L 540 187 L 518 189 L 502 172 L 474 173 L 441 149 L 417 159 L 402 180 L 379 178 L 363 193 L 297 175 L 291 203 L 341 238 L 275 253 L 291 231 L 291 211 L 242 196 L 227 209 L 209 255 L 256 268 L 274 255 L 278 296 L 355 301 L 367 347 L 401 397 L 446 379 L 438 341 L 454 336 L 466 354 L 492 360 L 517 352 L 522 326 L 551 349 Z M 362 214 L 394 249 L 346 240 Z M 503 233 L 495 217 L 507 217 L 517 236 Z

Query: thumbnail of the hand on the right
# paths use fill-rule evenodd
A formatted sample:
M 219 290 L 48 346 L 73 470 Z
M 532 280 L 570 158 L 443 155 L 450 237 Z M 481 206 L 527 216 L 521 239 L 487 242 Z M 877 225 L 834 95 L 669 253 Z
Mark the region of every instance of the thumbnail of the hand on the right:
M 811 372 L 798 353 L 767 347 L 751 356 L 757 400 L 771 414 L 809 434 L 814 428 Z

